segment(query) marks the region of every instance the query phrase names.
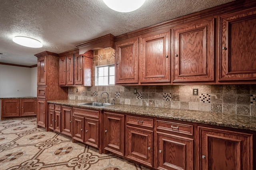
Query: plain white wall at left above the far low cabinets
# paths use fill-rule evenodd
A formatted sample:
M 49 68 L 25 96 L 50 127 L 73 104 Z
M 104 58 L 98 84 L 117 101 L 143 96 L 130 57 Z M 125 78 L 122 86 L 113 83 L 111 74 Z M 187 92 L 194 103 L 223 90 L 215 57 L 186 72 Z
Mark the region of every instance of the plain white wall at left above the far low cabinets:
M 36 67 L 26 68 L 0 64 L 0 98 L 36 97 L 36 80 Z

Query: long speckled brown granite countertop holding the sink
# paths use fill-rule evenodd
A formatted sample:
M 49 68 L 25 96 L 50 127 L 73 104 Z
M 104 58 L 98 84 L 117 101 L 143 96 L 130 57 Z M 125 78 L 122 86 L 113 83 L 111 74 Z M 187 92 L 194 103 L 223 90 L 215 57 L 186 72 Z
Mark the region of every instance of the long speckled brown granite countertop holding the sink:
M 106 111 L 116 111 L 121 113 L 130 113 L 134 115 L 144 115 L 150 117 L 160 117 L 165 119 L 173 119 L 194 123 L 202 123 L 207 125 L 217 125 L 222 127 L 232 127 L 236 129 L 245 129 L 256 131 L 256 117 L 246 115 L 231 115 L 210 113 L 204 111 L 179 110 L 159 107 L 142 107 L 133 105 L 114 104 L 105 107 L 79 105 L 87 101 L 79 100 L 55 100 L 48 101 L 51 104 L 60 104 L 73 107 L 83 107 Z

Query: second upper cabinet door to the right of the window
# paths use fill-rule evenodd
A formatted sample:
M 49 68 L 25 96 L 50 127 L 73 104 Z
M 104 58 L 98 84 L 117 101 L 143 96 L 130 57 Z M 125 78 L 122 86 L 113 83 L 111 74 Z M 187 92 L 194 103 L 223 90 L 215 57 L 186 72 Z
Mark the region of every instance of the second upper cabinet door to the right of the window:
M 170 83 L 170 30 L 140 38 L 140 82 Z

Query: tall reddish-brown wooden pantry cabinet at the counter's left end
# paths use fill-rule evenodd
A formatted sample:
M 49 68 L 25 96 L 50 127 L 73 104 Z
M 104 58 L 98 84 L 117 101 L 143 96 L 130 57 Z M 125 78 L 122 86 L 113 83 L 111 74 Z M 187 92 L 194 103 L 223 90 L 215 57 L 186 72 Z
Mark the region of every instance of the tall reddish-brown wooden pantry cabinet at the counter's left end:
M 44 51 L 35 55 L 37 65 L 37 125 L 48 131 L 48 100 L 68 99 L 68 87 L 59 86 L 60 59 L 58 54 Z

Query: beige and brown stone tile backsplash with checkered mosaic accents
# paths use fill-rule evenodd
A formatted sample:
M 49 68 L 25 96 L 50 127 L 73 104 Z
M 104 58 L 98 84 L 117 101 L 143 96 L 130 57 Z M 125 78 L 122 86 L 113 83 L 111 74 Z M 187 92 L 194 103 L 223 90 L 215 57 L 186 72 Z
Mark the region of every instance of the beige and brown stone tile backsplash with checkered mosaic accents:
M 95 66 L 114 64 L 114 49 L 94 51 L 93 84 Z M 198 95 L 193 95 L 193 89 Z M 78 92 L 76 92 L 78 89 Z M 137 93 L 134 94 L 134 89 Z M 92 86 L 69 87 L 68 98 L 72 100 L 109 101 L 116 104 L 165 107 L 214 113 L 256 116 L 256 85 L 169 85 L 169 86 Z M 101 97 L 102 94 L 102 97 Z

